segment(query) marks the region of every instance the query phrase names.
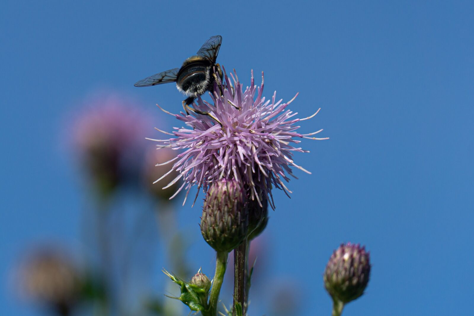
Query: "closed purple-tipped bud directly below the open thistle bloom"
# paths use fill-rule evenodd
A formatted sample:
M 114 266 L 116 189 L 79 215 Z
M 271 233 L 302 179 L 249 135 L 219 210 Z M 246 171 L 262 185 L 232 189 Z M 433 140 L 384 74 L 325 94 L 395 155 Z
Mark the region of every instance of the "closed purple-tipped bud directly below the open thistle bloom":
M 235 180 L 214 182 L 204 199 L 201 233 L 217 252 L 230 252 L 247 235 L 248 211 L 242 185 Z

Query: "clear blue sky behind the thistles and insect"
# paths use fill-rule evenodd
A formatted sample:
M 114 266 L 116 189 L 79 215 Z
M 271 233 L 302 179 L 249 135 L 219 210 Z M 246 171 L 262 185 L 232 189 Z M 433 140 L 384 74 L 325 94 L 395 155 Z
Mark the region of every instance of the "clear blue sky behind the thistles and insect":
M 304 142 L 311 153 L 296 160 L 313 174 L 296 171 L 292 199 L 274 193 L 266 280 L 295 280 L 298 315 L 329 315 L 322 271 L 333 249 L 351 241 L 366 244 L 373 270 L 345 315 L 470 314 L 474 4 L 353 2 L 3 0 L 1 315 L 38 315 L 11 293 L 18 255 L 32 242 L 78 238 L 84 192 L 61 148 L 70 137 L 64 117 L 106 87 L 141 100 L 157 121 L 169 119 L 155 103 L 178 111 L 173 85 L 133 83 L 178 67 L 216 34 L 219 63 L 244 84 L 251 69 L 263 70 L 267 96 L 277 90 L 288 100 L 299 91 L 292 109 L 301 117 L 322 108 L 302 130 L 324 128 L 319 135 L 331 138 Z M 199 206 L 179 216 L 195 239 L 195 268 L 211 274 Z

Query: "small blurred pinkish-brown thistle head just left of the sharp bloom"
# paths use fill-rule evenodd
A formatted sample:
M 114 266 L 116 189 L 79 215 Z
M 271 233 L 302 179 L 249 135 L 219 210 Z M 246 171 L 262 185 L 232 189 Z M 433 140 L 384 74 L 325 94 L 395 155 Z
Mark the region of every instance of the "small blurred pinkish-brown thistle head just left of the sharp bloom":
M 147 149 L 145 154 L 143 177 L 146 188 L 153 196 L 163 201 L 169 200 L 174 192 L 178 190 L 181 183 L 176 182 L 172 186 L 162 189 L 161 186 L 153 182 L 171 170 L 170 165 L 162 165 L 161 163 L 176 158 L 176 154 L 176 151 L 172 149 L 162 148 L 157 150 L 155 146 Z M 164 181 L 171 182 L 176 176 L 178 176 L 178 172 L 173 171 L 164 178 Z

